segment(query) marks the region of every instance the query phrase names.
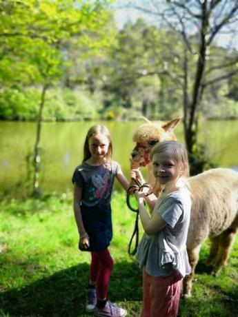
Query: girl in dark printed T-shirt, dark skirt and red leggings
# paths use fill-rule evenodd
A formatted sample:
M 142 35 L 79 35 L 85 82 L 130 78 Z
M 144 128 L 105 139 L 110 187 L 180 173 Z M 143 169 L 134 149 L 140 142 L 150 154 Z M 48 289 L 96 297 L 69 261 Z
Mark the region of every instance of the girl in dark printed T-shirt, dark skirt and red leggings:
M 83 163 L 76 167 L 72 176 L 79 249 L 91 254 L 86 311 L 94 312 L 96 316 L 125 317 L 126 309 L 108 300 L 108 284 L 113 267 L 108 249 L 112 239 L 110 200 L 115 177 L 127 190 L 128 181 L 121 167 L 112 161 L 112 141 L 108 128 L 94 125 L 86 136 Z

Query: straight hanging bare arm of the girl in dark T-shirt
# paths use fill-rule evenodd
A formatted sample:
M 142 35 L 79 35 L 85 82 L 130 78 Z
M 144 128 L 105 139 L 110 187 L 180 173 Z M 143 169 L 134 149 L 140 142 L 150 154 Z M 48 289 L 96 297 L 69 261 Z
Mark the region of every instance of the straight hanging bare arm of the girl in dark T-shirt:
M 75 184 L 75 192 L 74 192 L 74 212 L 75 212 L 75 221 L 77 223 L 78 232 L 79 232 L 79 243 L 82 247 L 87 248 L 89 247 L 89 237 L 86 232 L 86 229 L 83 226 L 83 220 L 81 216 L 81 208 L 80 208 L 80 201 L 82 196 L 82 187 Z

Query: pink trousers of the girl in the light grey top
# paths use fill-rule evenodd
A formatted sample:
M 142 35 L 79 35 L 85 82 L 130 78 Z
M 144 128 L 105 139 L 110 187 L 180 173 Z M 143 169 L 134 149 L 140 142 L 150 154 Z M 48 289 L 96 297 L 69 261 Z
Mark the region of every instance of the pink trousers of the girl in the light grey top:
M 176 271 L 170 276 L 150 276 L 144 269 L 141 317 L 176 317 L 181 282 Z

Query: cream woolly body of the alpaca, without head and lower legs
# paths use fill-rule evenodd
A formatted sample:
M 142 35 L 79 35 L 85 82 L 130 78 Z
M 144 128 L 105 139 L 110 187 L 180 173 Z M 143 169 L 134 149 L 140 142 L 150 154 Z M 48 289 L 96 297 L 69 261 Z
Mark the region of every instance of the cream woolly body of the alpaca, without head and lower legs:
M 230 227 L 238 212 L 238 173 L 225 168 L 188 178 L 192 210 L 187 247 L 197 247 L 208 236 Z

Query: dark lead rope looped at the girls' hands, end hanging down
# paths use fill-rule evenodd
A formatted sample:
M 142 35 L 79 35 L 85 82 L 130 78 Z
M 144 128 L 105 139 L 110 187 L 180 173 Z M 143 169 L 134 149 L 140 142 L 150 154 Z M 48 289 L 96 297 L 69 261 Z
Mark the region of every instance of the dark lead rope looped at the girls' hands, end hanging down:
M 136 219 L 135 219 L 135 228 L 134 228 L 134 231 L 132 233 L 132 237 L 130 238 L 130 242 L 129 242 L 129 245 L 128 245 L 128 254 L 130 256 L 135 256 L 135 254 L 137 253 L 137 247 L 138 247 L 138 244 L 139 244 L 139 225 L 138 225 L 138 221 L 139 221 L 139 209 L 135 209 L 132 207 L 132 205 L 130 205 L 130 190 L 133 190 L 133 194 L 139 190 L 141 190 L 143 187 L 148 187 L 150 188 L 150 185 L 148 185 L 147 183 L 144 183 L 143 185 L 141 185 L 141 183 L 137 180 L 137 179 L 134 179 L 135 183 L 137 183 L 137 185 L 131 185 L 129 188 L 128 188 L 128 191 L 127 191 L 127 195 L 126 195 L 126 203 L 128 205 L 128 208 L 132 211 L 132 212 L 136 212 L 137 213 L 137 216 L 136 216 Z M 152 193 L 150 193 L 152 194 Z M 150 194 L 147 194 L 150 195 Z M 131 251 L 131 245 L 132 245 L 132 241 L 133 241 L 133 238 L 135 236 L 135 248 L 133 249 L 133 251 Z

